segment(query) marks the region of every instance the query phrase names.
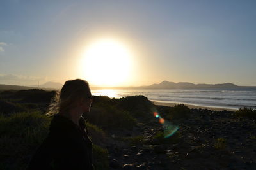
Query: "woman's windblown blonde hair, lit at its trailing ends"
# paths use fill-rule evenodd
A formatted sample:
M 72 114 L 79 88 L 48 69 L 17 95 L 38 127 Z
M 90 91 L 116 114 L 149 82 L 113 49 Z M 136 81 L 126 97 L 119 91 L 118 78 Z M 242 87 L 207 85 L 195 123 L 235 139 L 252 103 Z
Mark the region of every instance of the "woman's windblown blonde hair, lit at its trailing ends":
M 51 99 L 49 111 L 46 115 L 54 115 L 56 113 L 65 113 L 74 107 L 74 103 L 90 94 L 90 87 L 87 81 L 76 79 L 68 80 L 63 85 L 60 92 L 56 92 Z

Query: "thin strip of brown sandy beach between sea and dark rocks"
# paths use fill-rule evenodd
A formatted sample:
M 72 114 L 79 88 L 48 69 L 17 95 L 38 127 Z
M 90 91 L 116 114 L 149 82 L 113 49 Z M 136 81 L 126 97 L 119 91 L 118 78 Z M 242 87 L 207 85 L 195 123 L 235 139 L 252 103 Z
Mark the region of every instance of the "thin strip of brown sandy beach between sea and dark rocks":
M 167 102 L 159 102 L 159 101 L 152 101 L 157 106 L 169 106 L 173 107 L 176 104 L 183 104 L 183 103 L 167 103 Z M 227 111 L 237 111 L 236 109 L 229 109 L 229 108 L 218 108 L 218 107 L 210 107 L 210 106 L 196 106 L 193 104 L 184 104 L 188 106 L 190 109 L 207 109 L 207 110 L 213 110 L 213 111 L 222 111 L 222 110 L 227 110 Z

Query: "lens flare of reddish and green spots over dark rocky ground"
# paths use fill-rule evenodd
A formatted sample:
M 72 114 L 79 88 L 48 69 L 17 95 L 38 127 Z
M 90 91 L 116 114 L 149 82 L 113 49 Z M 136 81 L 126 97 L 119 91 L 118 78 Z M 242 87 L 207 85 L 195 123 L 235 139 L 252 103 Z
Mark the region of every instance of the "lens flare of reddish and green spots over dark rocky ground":
M 178 131 L 179 127 L 177 127 L 177 125 L 173 125 L 171 122 L 164 120 L 157 111 L 154 111 L 153 114 L 154 117 L 159 118 L 159 123 L 163 125 L 164 138 L 169 138 Z

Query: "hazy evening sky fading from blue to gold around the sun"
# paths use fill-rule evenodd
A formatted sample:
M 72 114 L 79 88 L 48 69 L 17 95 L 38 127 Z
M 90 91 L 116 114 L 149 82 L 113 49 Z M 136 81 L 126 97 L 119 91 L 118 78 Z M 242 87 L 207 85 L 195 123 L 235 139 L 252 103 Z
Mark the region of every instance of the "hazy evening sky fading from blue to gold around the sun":
M 255 8 L 250 0 L 1 0 L 0 84 L 83 78 L 109 86 L 163 80 L 256 86 Z M 129 64 L 100 62 L 111 54 L 85 60 L 101 39 L 122 45 Z

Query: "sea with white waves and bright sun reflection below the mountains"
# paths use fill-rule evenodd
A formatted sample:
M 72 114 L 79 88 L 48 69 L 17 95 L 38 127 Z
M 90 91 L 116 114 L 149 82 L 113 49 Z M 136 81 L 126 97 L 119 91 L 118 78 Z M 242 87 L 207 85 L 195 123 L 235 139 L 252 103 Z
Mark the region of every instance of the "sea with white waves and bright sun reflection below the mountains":
M 213 108 L 256 109 L 256 87 L 232 89 L 101 89 L 92 90 L 95 96 L 122 98 L 143 95 L 151 101 L 192 104 Z

